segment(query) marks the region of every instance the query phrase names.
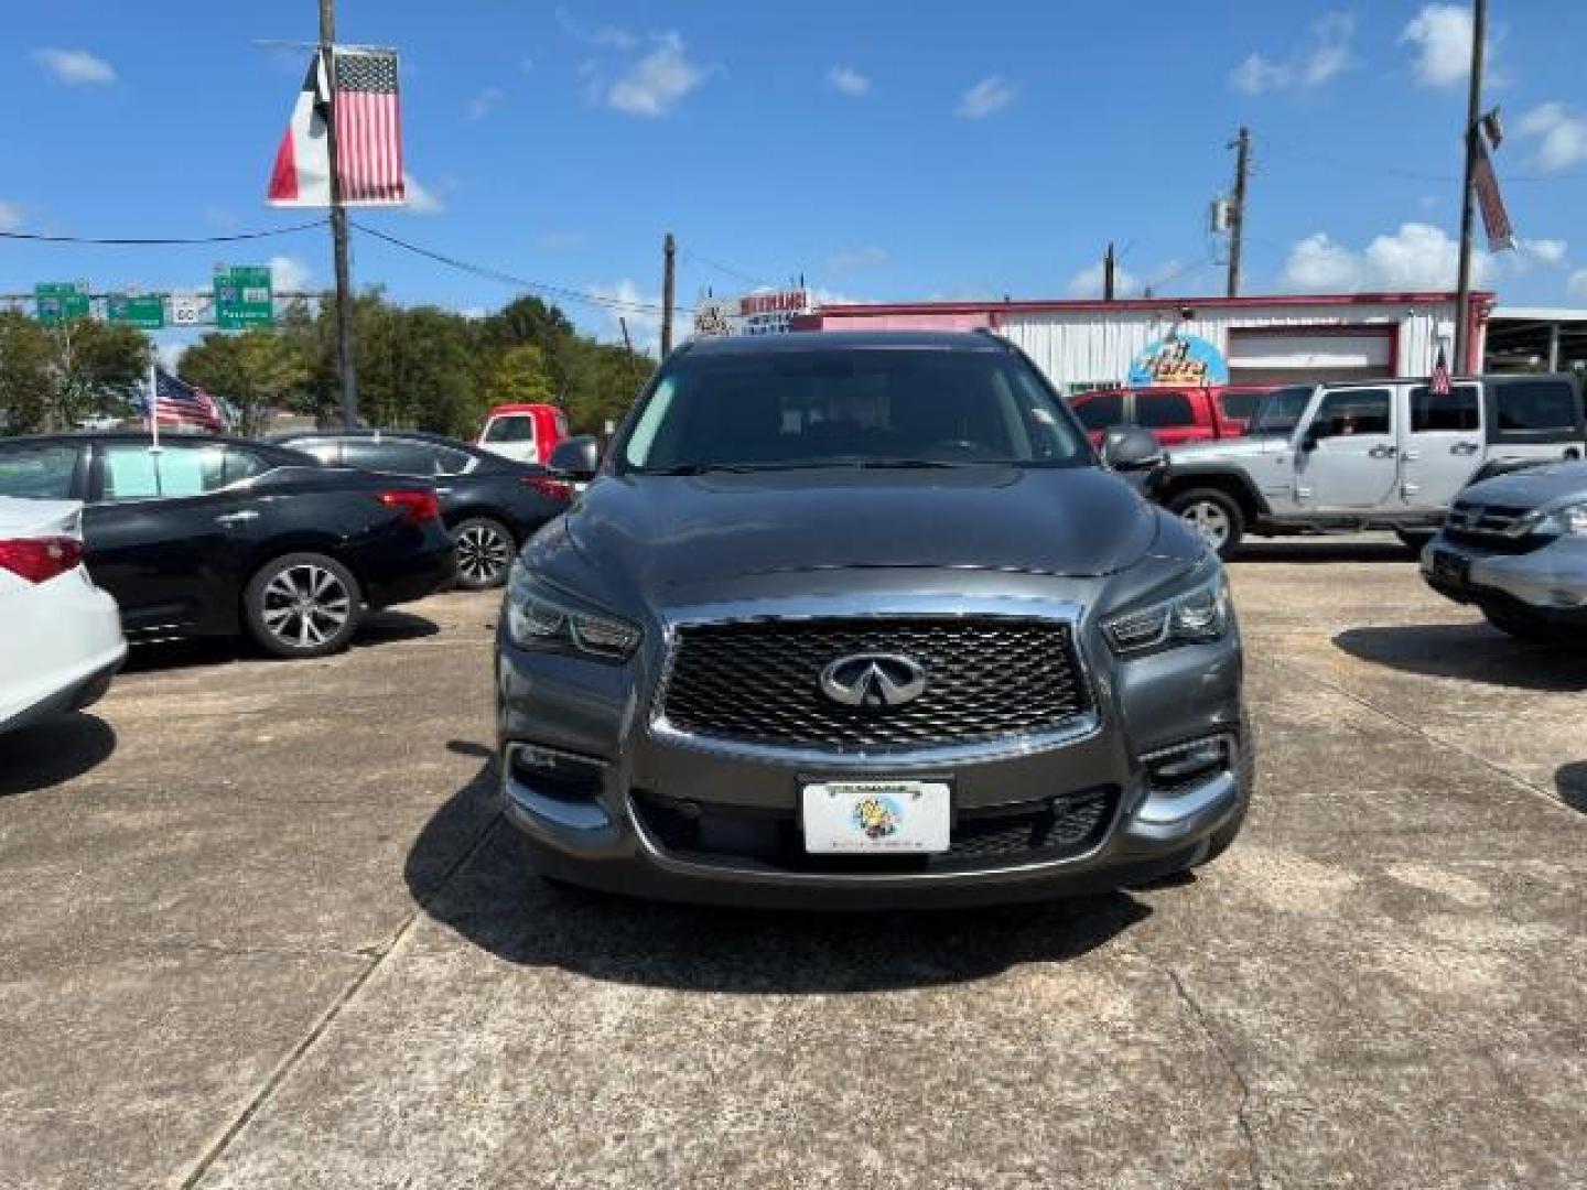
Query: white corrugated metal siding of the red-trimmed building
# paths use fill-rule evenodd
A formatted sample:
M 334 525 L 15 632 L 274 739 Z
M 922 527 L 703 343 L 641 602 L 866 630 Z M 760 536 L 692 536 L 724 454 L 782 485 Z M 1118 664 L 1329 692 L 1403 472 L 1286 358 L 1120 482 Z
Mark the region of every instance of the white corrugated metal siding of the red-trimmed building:
M 1187 301 L 1195 309 L 1195 301 Z M 1130 362 L 1152 340 L 1170 330 L 1197 335 L 1228 352 L 1233 327 L 1351 327 L 1397 325 L 1401 376 L 1425 376 L 1443 341 L 1451 351 L 1454 335 L 1454 303 L 1403 305 L 1316 305 L 1316 306 L 1241 306 L 1212 309 L 1181 322 L 1162 311 L 1111 313 L 1008 313 L 998 319 L 998 330 L 1030 355 L 1059 384 L 1117 382 L 1130 371 Z M 851 324 L 852 325 L 852 324 Z

